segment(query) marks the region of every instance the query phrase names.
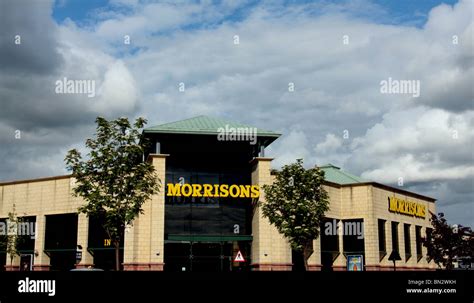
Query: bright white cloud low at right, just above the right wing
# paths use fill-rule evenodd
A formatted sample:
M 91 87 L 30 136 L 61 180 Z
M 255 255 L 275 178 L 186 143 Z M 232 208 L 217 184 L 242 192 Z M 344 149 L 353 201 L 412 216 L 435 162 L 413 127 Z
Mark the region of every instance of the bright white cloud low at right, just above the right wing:
M 354 139 L 347 161 L 385 183 L 473 178 L 473 117 L 422 107 L 389 112 Z

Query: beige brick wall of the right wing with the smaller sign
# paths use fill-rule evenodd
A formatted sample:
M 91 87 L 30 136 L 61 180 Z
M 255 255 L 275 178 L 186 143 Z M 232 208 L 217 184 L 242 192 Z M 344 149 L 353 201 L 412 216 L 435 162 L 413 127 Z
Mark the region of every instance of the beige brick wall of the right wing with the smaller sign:
M 330 218 L 349 220 L 349 219 L 363 219 L 364 220 L 364 246 L 365 246 L 365 263 L 369 266 L 385 266 L 387 268 L 393 267 L 393 262 L 388 261 L 388 255 L 392 251 L 391 241 L 391 222 L 399 222 L 398 226 L 398 241 L 399 251 L 402 256 L 402 261 L 397 262 L 397 266 L 407 269 L 416 268 L 430 268 L 436 266 L 433 262 L 426 261 L 426 248 L 422 247 L 423 258 L 417 260 L 416 256 L 416 237 L 415 226 L 422 227 L 422 237 L 426 234 L 426 228 L 431 227 L 429 222 L 429 212 L 436 212 L 436 207 L 433 202 L 424 200 L 420 197 L 414 197 L 410 194 L 399 194 L 398 191 L 389 191 L 378 188 L 373 185 L 364 186 L 325 186 L 326 191 L 330 197 L 330 209 L 326 212 L 326 216 Z M 388 210 L 388 197 L 394 196 L 414 201 L 426 205 L 427 212 L 424 219 L 407 216 L 403 214 L 391 213 Z M 387 255 L 380 261 L 379 254 L 379 235 L 378 235 L 378 219 L 387 220 L 385 225 L 385 239 Z M 405 260 L 405 243 L 403 224 L 410 224 L 410 246 L 411 258 Z M 323 233 L 324 230 L 321 230 Z M 320 239 L 314 242 L 315 252 L 320 252 Z M 342 236 L 339 236 L 340 254 L 334 261 L 334 266 L 345 266 L 346 258 L 343 255 Z M 314 254 L 309 260 L 310 265 L 320 265 L 320 254 Z

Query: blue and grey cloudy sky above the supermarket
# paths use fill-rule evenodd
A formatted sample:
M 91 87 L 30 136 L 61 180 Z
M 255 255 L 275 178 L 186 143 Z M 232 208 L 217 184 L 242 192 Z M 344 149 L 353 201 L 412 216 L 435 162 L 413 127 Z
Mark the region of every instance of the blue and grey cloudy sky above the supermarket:
M 65 174 L 98 115 L 210 115 L 281 132 L 275 167 L 330 162 L 473 226 L 473 6 L 2 0 L 0 180 Z M 96 95 L 57 94 L 65 77 Z M 419 81 L 419 97 L 382 93 L 388 79 Z

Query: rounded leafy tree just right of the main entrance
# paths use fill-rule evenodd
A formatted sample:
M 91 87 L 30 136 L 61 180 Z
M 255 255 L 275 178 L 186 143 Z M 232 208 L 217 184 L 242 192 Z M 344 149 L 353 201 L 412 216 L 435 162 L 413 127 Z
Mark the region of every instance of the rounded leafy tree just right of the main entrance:
M 306 270 L 313 254 L 313 241 L 319 237 L 324 213 L 329 209 L 323 182 L 323 170 L 305 169 L 303 160 L 298 159 L 283 166 L 273 184 L 263 186 L 266 199 L 261 203 L 263 216 L 303 255 Z

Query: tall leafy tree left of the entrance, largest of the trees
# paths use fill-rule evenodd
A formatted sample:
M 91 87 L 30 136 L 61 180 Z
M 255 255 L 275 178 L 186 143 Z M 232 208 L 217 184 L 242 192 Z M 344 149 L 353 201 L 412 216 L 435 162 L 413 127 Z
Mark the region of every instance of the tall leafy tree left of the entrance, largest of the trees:
M 115 248 L 115 268 L 120 270 L 125 227 L 143 213 L 143 203 L 159 191 L 161 181 L 153 165 L 143 161 L 147 141 L 140 129 L 145 119 L 131 125 L 127 118 L 98 117 L 96 123 L 95 138 L 85 143 L 87 159 L 72 149 L 65 161 L 76 182 L 74 195 L 87 201 L 79 212 L 104 218 L 103 228 Z

